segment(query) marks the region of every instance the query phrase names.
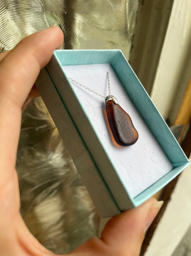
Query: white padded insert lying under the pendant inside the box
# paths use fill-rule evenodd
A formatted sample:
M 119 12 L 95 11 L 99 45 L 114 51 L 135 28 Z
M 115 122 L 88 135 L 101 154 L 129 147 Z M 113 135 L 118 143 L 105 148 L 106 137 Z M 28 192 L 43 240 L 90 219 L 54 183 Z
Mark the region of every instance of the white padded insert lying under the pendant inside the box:
M 113 144 L 105 120 L 104 98 L 73 82 L 71 84 L 132 197 L 137 196 L 173 169 L 171 162 L 135 109 L 110 64 L 63 66 L 63 68 L 68 77 L 104 96 L 108 95 L 106 72 L 109 72 L 111 94 L 132 118 L 139 134 L 138 141 L 129 147 L 118 148 Z

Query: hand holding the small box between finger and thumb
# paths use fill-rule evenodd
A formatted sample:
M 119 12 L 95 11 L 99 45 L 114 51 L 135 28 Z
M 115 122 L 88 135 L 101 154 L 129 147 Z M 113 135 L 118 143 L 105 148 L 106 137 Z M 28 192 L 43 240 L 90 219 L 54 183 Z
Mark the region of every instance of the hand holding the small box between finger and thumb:
M 13 50 L 0 54 L 0 255 L 48 256 L 29 232 L 19 211 L 20 197 L 15 170 L 22 109 L 39 96 L 34 82 L 63 43 L 58 27 L 35 33 Z M 156 216 L 160 202 L 151 198 L 143 205 L 108 221 L 101 238 L 91 238 L 71 256 L 138 256 L 145 230 Z

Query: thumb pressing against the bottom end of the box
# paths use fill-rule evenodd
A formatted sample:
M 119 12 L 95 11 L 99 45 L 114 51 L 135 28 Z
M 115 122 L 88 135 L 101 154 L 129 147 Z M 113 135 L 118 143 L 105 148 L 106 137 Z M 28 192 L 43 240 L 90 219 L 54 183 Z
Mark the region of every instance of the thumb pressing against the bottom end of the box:
M 110 219 L 101 239 L 119 255 L 139 255 L 144 235 L 163 201 L 150 198 L 141 206 L 125 211 Z M 125 253 L 125 254 L 123 254 Z M 117 254 L 118 255 L 118 254 Z

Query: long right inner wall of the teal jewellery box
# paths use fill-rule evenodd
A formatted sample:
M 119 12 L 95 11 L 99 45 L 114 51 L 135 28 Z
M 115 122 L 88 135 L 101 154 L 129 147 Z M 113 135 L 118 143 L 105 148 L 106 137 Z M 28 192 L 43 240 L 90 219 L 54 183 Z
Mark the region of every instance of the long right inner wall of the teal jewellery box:
M 126 69 L 126 66 L 129 68 Z M 138 77 L 135 75 L 123 53 L 120 54 L 113 68 L 118 74 L 118 78 L 124 85 L 124 88 L 134 106 L 137 108 L 139 114 L 149 127 L 149 130 L 152 132 L 154 138 L 157 140 L 171 163 L 177 166 L 178 163 L 181 165 L 181 162 L 187 161 L 185 153 L 144 87 L 140 86 L 141 83 Z M 139 101 L 137 98 L 139 98 Z M 147 111 L 148 109 L 149 113 Z

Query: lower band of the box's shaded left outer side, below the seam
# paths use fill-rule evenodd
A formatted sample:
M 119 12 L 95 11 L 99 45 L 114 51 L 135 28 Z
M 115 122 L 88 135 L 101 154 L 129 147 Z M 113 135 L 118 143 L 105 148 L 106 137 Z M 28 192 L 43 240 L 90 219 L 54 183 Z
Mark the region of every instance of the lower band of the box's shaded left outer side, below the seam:
M 100 172 L 97 170 L 96 163 L 91 161 L 89 151 L 85 147 L 80 134 L 78 133 L 65 104 L 58 94 L 47 69 L 43 68 L 35 82 L 49 113 L 53 117 L 55 124 L 65 141 L 68 150 L 72 152 L 72 157 L 78 172 L 94 202 L 100 217 L 106 218 L 115 216 L 120 213 L 120 209 L 116 204 L 111 192 L 102 179 Z M 64 118 L 61 118 L 64 117 Z M 68 132 L 70 131 L 70 132 Z M 71 151 L 72 143 L 75 140 L 79 150 Z M 76 148 L 75 148 L 76 149 Z

